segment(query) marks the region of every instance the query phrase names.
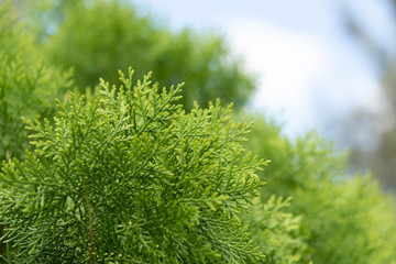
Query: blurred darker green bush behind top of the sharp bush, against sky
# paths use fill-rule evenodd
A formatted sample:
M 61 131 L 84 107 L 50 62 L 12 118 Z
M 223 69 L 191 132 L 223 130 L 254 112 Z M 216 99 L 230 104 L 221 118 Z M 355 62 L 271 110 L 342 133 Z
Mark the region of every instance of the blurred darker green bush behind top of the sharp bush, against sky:
M 100 76 L 116 82 L 116 70 L 133 65 L 138 78 L 152 70 L 160 86 L 184 81 L 186 109 L 217 98 L 242 107 L 254 89 L 252 76 L 218 34 L 170 32 L 128 1 L 44 2 L 33 20 L 44 35 L 43 52 L 55 65 L 73 67 L 80 88 L 94 87 Z

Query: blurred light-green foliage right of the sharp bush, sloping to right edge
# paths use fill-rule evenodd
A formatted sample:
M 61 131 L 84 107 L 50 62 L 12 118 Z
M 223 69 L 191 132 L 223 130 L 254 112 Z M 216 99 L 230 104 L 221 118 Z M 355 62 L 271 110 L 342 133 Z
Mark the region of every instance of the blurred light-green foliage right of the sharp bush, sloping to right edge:
M 292 143 L 278 125 L 258 119 L 246 147 L 271 165 L 262 204 L 293 197 L 314 263 L 395 263 L 395 201 L 370 177 L 345 178 L 345 156 L 314 134 Z

